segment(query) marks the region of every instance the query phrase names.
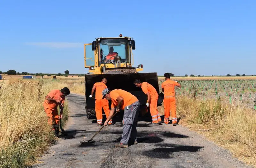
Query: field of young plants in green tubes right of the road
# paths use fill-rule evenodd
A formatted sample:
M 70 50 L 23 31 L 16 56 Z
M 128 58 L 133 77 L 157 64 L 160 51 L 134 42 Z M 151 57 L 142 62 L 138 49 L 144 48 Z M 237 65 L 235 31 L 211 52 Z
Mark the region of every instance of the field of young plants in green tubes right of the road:
M 160 86 L 164 80 L 159 82 Z M 256 80 L 180 80 L 181 88 L 176 88 L 176 95 L 192 96 L 196 98 L 201 95 L 205 97 L 212 97 L 215 94 L 216 99 L 220 100 L 220 96 L 229 97 L 229 103 L 232 103 L 232 98 L 236 99 L 239 95 L 240 100 L 243 97 L 254 99 L 254 109 L 256 110 Z M 209 94 L 210 93 L 210 94 Z

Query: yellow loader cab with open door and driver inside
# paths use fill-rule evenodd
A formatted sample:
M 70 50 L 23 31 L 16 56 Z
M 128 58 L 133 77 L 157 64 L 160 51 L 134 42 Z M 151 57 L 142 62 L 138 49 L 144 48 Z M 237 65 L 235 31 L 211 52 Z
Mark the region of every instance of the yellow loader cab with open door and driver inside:
M 131 37 L 96 38 L 84 44 L 84 64 L 93 74 L 102 74 L 106 68 L 130 67 L 133 65 L 135 41 Z M 142 66 L 133 67 L 142 71 Z

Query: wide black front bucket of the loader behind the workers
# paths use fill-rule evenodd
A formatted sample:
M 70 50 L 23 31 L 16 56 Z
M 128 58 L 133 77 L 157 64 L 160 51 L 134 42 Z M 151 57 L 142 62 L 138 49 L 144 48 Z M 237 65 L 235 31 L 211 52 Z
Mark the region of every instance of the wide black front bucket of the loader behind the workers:
M 159 85 L 157 73 L 127 73 L 127 74 L 86 74 L 85 75 L 85 96 L 86 108 L 95 108 L 95 100 L 89 98 L 93 84 L 101 82 L 103 78 L 107 79 L 107 87 L 110 90 L 123 89 L 137 97 L 141 105 L 146 105 L 147 96 L 142 92 L 141 88 L 136 87 L 133 82 L 140 79 L 141 82 L 148 82 L 159 94 Z

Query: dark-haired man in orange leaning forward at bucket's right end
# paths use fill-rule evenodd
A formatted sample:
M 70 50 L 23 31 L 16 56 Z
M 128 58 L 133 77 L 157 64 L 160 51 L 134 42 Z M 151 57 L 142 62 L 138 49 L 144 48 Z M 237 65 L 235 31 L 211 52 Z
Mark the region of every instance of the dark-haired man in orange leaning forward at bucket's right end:
M 162 120 L 157 110 L 158 93 L 156 92 L 156 89 L 148 82 L 141 83 L 140 79 L 136 79 L 134 84 L 137 87 L 141 87 L 142 91 L 148 96 L 146 105 L 149 107 L 152 116 L 152 123 L 149 123 L 149 125 L 161 124 Z

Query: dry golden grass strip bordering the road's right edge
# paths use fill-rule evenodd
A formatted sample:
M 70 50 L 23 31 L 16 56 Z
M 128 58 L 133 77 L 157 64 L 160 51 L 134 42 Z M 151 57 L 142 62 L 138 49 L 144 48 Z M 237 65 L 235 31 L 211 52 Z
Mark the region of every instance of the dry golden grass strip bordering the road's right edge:
M 210 139 L 230 149 L 247 164 L 256 166 L 256 113 L 240 104 L 217 100 L 193 100 L 177 97 L 177 115 Z

